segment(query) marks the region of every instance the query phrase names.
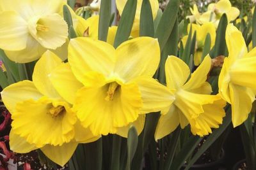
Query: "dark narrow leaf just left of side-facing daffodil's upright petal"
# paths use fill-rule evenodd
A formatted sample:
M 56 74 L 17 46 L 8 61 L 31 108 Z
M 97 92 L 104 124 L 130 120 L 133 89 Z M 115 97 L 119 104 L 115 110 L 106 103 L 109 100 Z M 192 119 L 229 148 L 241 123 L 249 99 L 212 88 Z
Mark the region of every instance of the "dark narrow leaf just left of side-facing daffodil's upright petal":
M 178 32 L 178 20 L 176 19 L 175 25 L 173 27 L 172 33 L 164 46 L 163 52 L 161 53 L 161 60 L 159 65 L 159 82 L 162 84 L 166 83 L 165 80 L 165 62 L 168 55 L 175 55 L 177 56 L 178 53 L 178 43 L 179 43 L 179 32 Z

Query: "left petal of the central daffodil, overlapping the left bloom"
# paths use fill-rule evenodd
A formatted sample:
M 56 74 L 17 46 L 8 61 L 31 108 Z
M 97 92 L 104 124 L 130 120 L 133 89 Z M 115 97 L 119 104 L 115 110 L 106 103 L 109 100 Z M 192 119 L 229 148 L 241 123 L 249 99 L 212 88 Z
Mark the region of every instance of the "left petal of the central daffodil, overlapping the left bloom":
M 58 94 L 60 94 L 65 101 L 73 104 L 76 98 L 76 92 L 83 87 L 83 84 L 76 79 L 70 65 L 68 63 L 61 64 L 52 71 L 49 78 Z

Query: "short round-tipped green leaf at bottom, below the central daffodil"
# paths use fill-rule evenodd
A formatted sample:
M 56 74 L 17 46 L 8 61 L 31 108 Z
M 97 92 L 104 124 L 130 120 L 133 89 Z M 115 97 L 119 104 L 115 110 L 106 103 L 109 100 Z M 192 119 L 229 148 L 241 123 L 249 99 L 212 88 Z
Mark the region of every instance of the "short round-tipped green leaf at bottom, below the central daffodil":
M 131 126 L 127 138 L 127 166 L 126 169 L 131 169 L 131 162 L 136 152 L 138 145 L 138 133 L 134 126 Z

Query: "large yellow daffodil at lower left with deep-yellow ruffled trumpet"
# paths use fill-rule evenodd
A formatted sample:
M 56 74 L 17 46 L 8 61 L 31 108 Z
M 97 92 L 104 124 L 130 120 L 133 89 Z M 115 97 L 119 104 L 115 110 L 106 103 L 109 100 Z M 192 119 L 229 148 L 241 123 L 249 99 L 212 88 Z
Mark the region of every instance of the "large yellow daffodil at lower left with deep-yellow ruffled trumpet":
M 99 139 L 77 121 L 72 105 L 54 89 L 49 74 L 61 59 L 47 51 L 36 62 L 33 81 L 20 81 L 6 87 L 1 96 L 12 114 L 10 147 L 27 153 L 40 148 L 52 161 L 63 166 L 78 143 Z

